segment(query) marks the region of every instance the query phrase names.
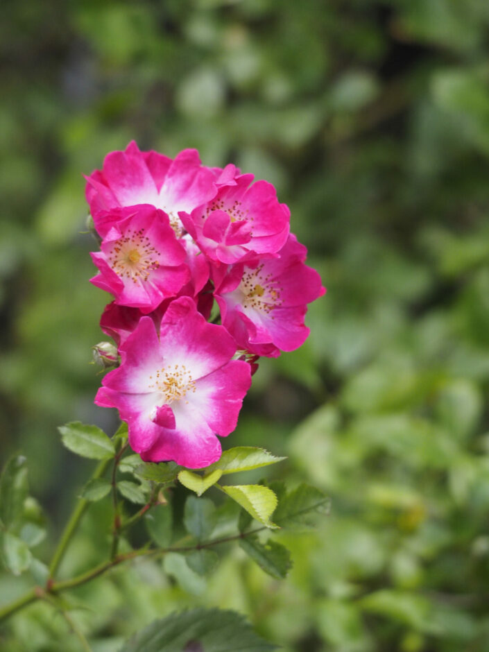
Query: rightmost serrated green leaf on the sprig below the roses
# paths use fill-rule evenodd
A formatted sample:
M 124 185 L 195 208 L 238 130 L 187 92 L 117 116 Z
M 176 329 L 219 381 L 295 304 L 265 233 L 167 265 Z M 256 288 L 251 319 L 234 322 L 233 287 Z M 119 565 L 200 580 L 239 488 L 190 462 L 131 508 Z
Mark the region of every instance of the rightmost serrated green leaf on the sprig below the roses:
M 318 514 L 328 511 L 329 498 L 319 489 L 301 484 L 280 499 L 273 520 L 283 528 L 309 529 L 316 524 Z

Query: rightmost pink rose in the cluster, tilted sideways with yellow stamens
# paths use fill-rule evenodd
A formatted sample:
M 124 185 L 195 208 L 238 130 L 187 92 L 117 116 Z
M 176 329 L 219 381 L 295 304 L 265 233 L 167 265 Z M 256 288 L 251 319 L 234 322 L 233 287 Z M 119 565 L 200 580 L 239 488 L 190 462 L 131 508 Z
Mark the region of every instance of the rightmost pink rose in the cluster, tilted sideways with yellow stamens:
M 307 304 L 325 293 L 319 274 L 304 265 L 306 255 L 290 234 L 280 257 L 234 265 L 216 281 L 221 321 L 239 349 L 277 357 L 304 343 Z

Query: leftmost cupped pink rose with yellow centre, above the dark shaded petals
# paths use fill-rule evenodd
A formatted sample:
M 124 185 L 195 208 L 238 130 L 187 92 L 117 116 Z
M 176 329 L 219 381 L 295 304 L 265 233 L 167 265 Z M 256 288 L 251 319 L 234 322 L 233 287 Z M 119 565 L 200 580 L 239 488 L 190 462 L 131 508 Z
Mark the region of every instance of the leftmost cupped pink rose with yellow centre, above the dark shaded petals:
M 91 279 L 120 305 L 148 313 L 175 296 L 190 279 L 185 248 L 164 212 L 141 205 L 116 209 L 101 251 L 92 253 L 99 273 Z

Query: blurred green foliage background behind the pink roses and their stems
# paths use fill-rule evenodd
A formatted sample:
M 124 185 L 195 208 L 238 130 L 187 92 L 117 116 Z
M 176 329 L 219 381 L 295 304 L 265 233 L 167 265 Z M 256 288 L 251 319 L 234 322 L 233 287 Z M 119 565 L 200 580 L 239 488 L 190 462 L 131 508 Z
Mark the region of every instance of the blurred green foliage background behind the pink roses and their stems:
M 93 404 L 108 297 L 88 282 L 82 173 L 130 139 L 232 161 L 275 184 L 328 288 L 306 345 L 261 364 L 225 445 L 288 455 L 273 472 L 323 488 L 331 515 L 282 536 L 295 560 L 283 583 L 233 549 L 207 591 L 144 565 L 84 587 L 94 650 L 205 603 L 246 612 L 289 652 L 488 651 L 489 4 L 0 12 L 1 457 L 30 460 L 46 556 L 90 472 L 56 426 L 116 427 Z M 68 573 L 96 558 L 94 514 Z M 2 576 L 2 599 L 23 581 Z M 35 608 L 14 633 L 9 651 L 77 649 Z

